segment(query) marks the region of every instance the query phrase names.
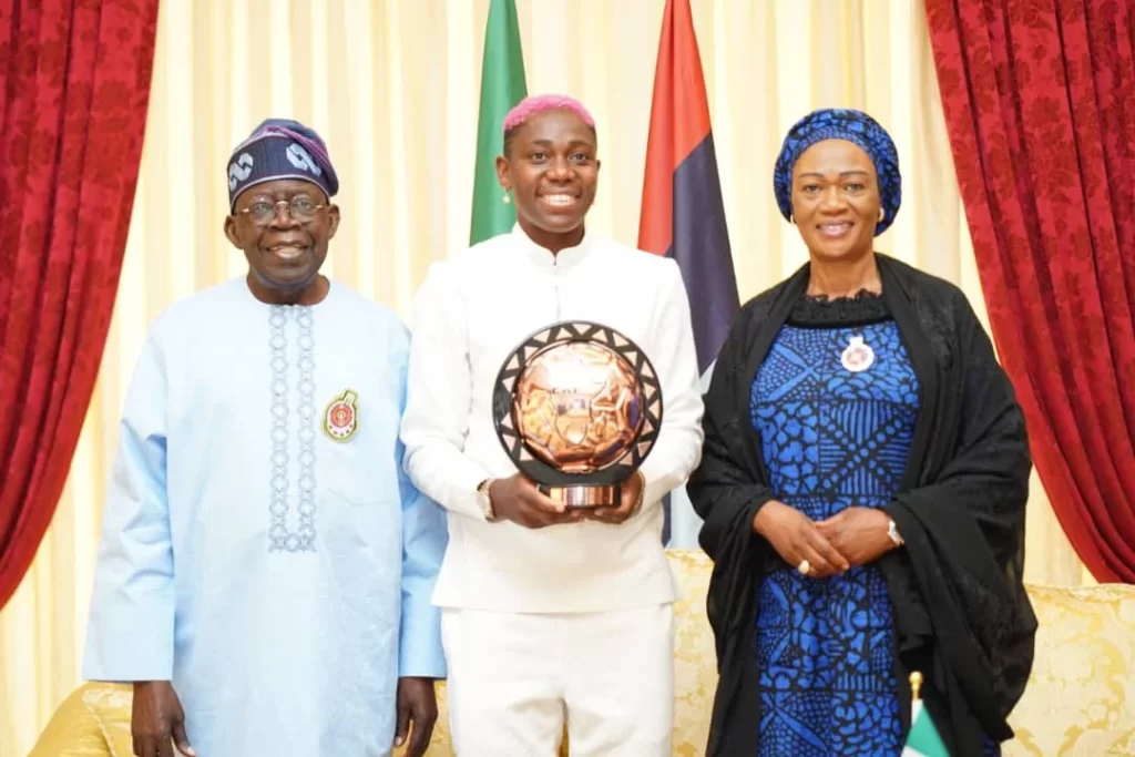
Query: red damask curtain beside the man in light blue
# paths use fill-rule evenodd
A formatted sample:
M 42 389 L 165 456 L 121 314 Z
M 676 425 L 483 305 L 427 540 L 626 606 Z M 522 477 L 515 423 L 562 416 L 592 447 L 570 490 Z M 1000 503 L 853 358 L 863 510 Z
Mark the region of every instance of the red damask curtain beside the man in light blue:
M 0 3 L 0 607 L 51 521 L 94 389 L 157 18 L 158 0 Z

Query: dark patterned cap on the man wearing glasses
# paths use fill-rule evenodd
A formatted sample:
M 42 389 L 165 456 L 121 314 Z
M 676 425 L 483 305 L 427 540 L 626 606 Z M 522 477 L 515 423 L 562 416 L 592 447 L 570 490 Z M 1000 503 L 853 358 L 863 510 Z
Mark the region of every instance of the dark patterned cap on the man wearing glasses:
M 328 197 L 339 191 L 323 140 L 300 121 L 269 118 L 233 150 L 228 160 L 229 210 L 249 187 L 281 178 L 311 182 Z

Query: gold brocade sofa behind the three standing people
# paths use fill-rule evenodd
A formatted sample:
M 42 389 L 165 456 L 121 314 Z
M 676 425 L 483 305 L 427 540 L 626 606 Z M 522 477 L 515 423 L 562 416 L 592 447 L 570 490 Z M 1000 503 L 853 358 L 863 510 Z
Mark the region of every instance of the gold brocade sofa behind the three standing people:
M 673 754 L 696 757 L 705 750 L 716 681 L 705 617 L 711 565 L 696 550 L 670 557 L 684 595 L 674 614 Z M 1036 663 L 1011 718 L 1017 739 L 1006 757 L 1135 755 L 1135 587 L 1031 587 L 1029 595 L 1041 622 Z M 428 754 L 446 757 L 453 750 L 444 687 L 439 705 Z M 127 687 L 83 685 L 60 705 L 28 757 L 129 757 L 129 715 Z

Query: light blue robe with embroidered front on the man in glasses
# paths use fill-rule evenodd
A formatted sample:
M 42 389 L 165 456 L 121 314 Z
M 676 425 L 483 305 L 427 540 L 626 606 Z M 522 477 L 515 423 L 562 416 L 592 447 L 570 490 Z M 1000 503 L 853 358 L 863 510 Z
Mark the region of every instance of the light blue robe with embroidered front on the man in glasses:
M 410 337 L 333 284 L 163 313 L 107 495 L 83 675 L 173 680 L 199 757 L 387 755 L 397 678 L 444 678 L 443 511 L 402 469 Z M 350 413 L 327 411 L 353 393 Z

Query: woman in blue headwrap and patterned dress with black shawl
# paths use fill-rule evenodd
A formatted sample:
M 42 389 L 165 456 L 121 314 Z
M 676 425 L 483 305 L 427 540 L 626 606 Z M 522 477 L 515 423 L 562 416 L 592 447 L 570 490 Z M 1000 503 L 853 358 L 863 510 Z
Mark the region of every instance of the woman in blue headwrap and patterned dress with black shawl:
M 809 263 L 749 302 L 689 491 L 715 561 L 711 757 L 891 757 L 907 674 L 957 757 L 999 755 L 1032 665 L 1031 470 L 965 296 L 874 251 L 901 197 L 869 116 L 822 110 L 774 186 Z

